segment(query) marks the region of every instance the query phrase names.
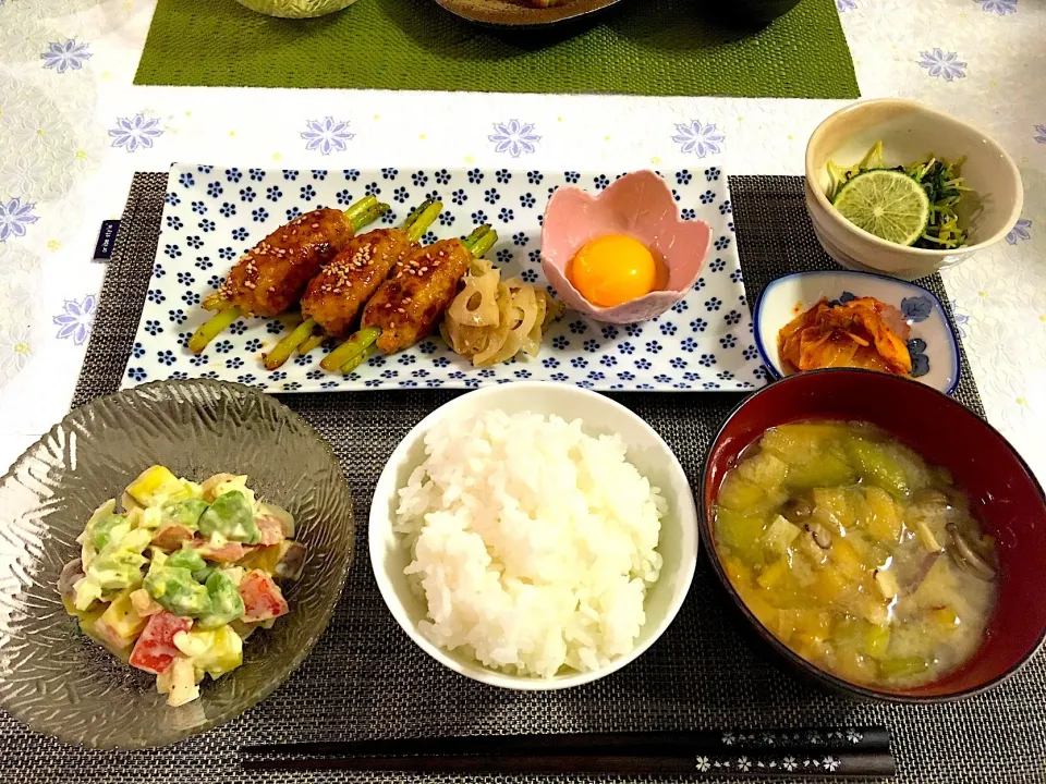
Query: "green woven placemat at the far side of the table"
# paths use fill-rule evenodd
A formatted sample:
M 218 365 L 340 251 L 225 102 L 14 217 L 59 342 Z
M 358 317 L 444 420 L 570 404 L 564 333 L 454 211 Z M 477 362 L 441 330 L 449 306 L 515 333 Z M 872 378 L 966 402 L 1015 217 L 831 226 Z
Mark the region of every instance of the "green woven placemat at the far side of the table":
M 159 0 L 136 84 L 855 98 L 834 0 L 757 33 L 711 21 L 730 0 L 625 0 L 558 42 L 504 39 L 433 0 L 358 0 L 279 20 L 234 0 Z

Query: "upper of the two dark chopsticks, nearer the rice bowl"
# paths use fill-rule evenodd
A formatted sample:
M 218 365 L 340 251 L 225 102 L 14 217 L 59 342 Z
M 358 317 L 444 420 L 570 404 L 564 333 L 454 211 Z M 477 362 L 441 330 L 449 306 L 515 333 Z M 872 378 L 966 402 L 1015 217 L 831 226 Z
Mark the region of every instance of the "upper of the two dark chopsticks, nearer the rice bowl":
M 372 756 L 402 755 L 605 755 L 615 757 L 671 757 L 677 754 L 726 754 L 820 749 L 886 751 L 890 734 L 884 726 L 795 730 L 679 731 L 624 733 L 562 733 L 550 735 L 473 735 L 423 738 L 376 738 L 327 743 L 263 744 L 244 746 L 244 755 Z

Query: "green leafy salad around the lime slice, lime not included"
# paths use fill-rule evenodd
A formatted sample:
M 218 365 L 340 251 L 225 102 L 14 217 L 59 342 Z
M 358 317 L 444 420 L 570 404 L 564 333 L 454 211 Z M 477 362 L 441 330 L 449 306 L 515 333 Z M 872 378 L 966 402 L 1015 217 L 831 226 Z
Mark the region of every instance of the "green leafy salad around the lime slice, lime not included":
M 925 226 L 911 243 L 912 247 L 947 250 L 966 244 L 968 232 L 959 225 L 957 208 L 973 191 L 963 182 L 960 173 L 965 157 L 949 163 L 927 156 L 908 166 L 888 167 L 883 156 L 883 142 L 877 142 L 855 166 L 844 168 L 828 161 L 830 180 L 828 200 L 836 203 L 840 192 L 855 177 L 876 171 L 902 172 L 917 183 L 928 200 Z

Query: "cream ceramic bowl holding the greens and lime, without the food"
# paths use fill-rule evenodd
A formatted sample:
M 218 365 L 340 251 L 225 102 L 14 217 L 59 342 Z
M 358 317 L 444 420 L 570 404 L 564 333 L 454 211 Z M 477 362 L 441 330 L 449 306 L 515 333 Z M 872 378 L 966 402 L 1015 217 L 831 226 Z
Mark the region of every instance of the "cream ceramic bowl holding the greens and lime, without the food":
M 831 206 L 826 195 L 828 161 L 853 166 L 879 140 L 888 166 L 927 155 L 948 161 L 965 156 L 962 176 L 982 203 L 975 212 L 963 211 L 960 205 L 960 225 L 970 231 L 969 245 L 953 250 L 896 245 L 859 229 Z M 972 199 L 965 203 L 972 210 Z M 932 274 L 1005 237 L 1021 217 L 1023 203 L 1021 175 L 1006 150 L 972 125 L 914 101 L 852 103 L 820 123 L 806 145 L 806 208 L 825 250 L 848 269 L 904 280 Z

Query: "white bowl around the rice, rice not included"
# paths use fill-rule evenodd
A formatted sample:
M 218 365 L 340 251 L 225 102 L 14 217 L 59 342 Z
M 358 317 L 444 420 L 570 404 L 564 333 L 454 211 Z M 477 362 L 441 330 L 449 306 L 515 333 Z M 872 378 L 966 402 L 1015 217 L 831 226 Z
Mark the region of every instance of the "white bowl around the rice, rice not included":
M 546 416 L 581 419 L 589 436 L 618 433 L 628 446 L 628 460 L 668 501 L 661 519 L 658 552 L 665 563 L 646 596 L 646 623 L 635 648 L 608 666 L 592 672 L 571 672 L 552 678 L 508 675 L 483 666 L 461 651 L 447 651 L 429 642 L 417 629 L 426 608 L 411 591 L 403 569 L 410 553 L 392 531 L 399 502 L 398 490 L 425 460 L 425 434 L 448 417 L 464 417 L 500 408 L 510 414 L 533 412 Z M 457 397 L 423 419 L 396 448 L 381 471 L 370 505 L 370 565 L 378 589 L 397 623 L 426 653 L 457 673 L 491 686 L 546 690 L 591 683 L 620 670 L 638 658 L 668 628 L 682 607 L 697 563 L 697 510 L 694 497 L 676 455 L 649 425 L 619 403 L 577 387 L 542 381 L 521 381 L 490 387 Z

